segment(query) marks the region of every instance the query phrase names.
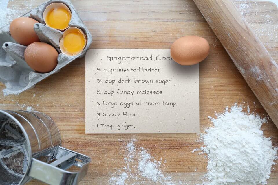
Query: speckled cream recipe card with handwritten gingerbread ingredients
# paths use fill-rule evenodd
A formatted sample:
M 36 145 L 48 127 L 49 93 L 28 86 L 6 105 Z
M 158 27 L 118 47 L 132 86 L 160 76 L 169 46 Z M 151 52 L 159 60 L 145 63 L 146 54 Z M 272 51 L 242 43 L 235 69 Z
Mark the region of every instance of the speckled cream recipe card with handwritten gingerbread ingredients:
M 199 64 L 169 49 L 90 49 L 86 133 L 198 133 Z

